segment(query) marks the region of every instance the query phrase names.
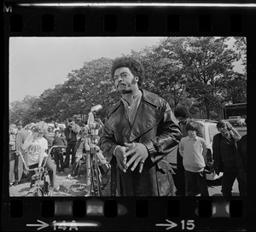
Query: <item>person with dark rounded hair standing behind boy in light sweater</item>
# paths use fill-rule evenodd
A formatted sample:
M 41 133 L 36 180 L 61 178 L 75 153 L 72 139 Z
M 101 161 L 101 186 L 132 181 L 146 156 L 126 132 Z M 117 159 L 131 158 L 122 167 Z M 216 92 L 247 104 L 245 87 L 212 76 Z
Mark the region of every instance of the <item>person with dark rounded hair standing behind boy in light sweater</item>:
M 181 128 L 183 137 L 188 136 L 188 131 L 186 130 L 186 125 L 188 125 L 190 122 L 194 121 L 190 118 L 189 108 L 178 105 L 174 109 L 174 115 L 176 119 L 178 120 L 178 125 Z M 197 122 L 198 130 L 196 130 L 196 136 L 203 137 L 202 131 L 201 131 L 201 125 Z M 183 166 L 183 157 L 179 153 L 179 149 L 177 148 L 177 171 L 176 175 L 174 175 L 174 183 L 177 187 L 177 195 L 184 196 L 185 195 L 185 174 L 184 174 L 184 166 Z

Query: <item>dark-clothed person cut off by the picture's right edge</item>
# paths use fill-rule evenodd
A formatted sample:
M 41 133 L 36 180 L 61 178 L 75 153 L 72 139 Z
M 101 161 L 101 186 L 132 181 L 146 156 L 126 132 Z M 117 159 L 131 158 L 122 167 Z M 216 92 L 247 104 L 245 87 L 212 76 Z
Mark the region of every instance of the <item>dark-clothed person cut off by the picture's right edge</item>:
M 245 119 L 247 124 L 247 119 Z M 241 196 L 247 195 L 247 135 L 241 137 L 237 143 L 237 167 L 238 167 L 238 181 L 239 194 Z

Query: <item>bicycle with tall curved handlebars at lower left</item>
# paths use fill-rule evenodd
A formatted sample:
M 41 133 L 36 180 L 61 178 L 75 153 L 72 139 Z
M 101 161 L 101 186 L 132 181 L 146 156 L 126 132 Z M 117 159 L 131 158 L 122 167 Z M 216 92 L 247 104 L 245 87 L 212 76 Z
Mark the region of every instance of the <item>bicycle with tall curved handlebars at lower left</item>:
M 49 174 L 48 174 L 47 168 L 45 167 L 46 162 L 50 157 L 52 148 L 65 148 L 65 147 L 64 146 L 52 146 L 51 148 L 49 148 L 49 153 L 48 153 L 47 158 L 44 161 L 44 164 L 40 167 L 36 167 L 36 168 L 32 168 L 32 169 L 27 167 L 26 162 L 23 158 L 23 155 L 20 153 L 20 151 L 14 152 L 17 155 L 20 155 L 22 162 L 25 165 L 25 168 L 27 171 L 35 171 L 35 174 L 32 176 L 32 180 L 35 181 L 35 184 L 27 193 L 28 195 L 32 195 L 32 196 L 36 196 L 36 197 L 52 196 L 53 192 L 49 188 L 49 186 L 50 186 Z

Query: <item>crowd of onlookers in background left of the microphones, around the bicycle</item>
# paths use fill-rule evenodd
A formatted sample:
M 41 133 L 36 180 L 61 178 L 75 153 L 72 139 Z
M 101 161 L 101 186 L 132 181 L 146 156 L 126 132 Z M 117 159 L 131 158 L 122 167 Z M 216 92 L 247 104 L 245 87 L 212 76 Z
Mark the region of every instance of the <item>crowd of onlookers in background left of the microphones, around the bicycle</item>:
M 97 122 L 95 123 L 99 127 L 102 126 Z M 89 125 L 79 126 L 73 118 L 67 119 L 66 128 L 59 127 L 57 122 L 54 126 L 51 126 L 44 121 L 26 125 L 24 128 L 21 122 L 18 122 L 18 125 L 19 127 L 15 124 L 9 125 L 10 187 L 18 185 L 21 182 L 21 177 L 23 177 L 31 182 L 30 188 L 32 188 L 35 183 L 32 178 L 35 171 L 27 171 L 26 166 L 33 169 L 42 166 L 46 162 L 45 167 L 49 173 L 50 190 L 58 190 L 60 186 L 56 183 L 55 176 L 58 173 L 64 173 L 64 168 L 67 168 L 67 178 L 77 177 L 79 161 L 84 159 L 86 163 L 86 195 L 90 195 L 91 140 Z M 20 155 L 15 153 L 17 151 L 23 156 L 26 165 L 23 164 Z M 51 152 L 49 153 L 49 151 Z M 96 146 L 96 155 L 97 160 L 101 162 L 102 170 L 108 171 L 110 166 L 98 146 Z M 64 157 L 66 157 L 65 161 Z

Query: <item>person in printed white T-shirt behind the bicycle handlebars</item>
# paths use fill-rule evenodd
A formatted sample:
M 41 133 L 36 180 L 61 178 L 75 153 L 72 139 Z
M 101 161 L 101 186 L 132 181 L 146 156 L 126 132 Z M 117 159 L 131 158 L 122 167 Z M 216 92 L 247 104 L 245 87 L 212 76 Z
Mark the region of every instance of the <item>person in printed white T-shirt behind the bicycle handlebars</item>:
M 27 136 L 23 144 L 22 149 L 27 149 L 27 165 L 30 169 L 44 165 L 44 162 L 48 157 L 48 154 L 46 153 L 48 142 L 44 138 L 47 128 L 48 125 L 46 123 L 39 122 L 33 127 L 32 135 Z M 56 166 L 50 157 L 47 159 L 45 166 L 48 168 L 51 189 L 53 190 L 55 188 L 58 190 L 59 186 L 55 184 Z M 29 171 L 31 177 L 34 173 L 34 171 Z M 34 181 L 31 183 L 31 188 L 33 184 Z

